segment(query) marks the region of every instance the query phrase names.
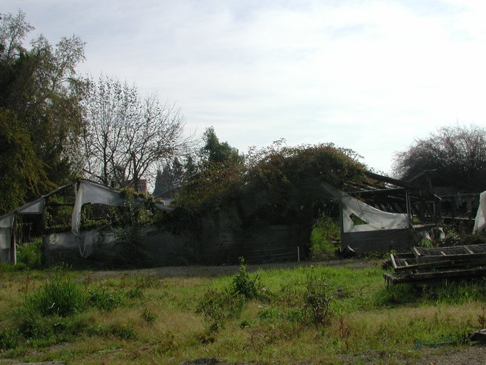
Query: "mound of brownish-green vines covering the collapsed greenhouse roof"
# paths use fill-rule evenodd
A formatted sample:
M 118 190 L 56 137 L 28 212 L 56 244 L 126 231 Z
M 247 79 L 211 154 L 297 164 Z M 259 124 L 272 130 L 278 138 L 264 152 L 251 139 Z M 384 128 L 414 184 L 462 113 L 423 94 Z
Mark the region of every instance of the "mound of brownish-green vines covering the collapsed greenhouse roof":
M 214 141 L 214 133 L 214 129 L 207 129 L 206 136 L 211 138 L 206 140 Z M 231 147 L 225 149 L 235 151 Z M 359 162 L 360 156 L 333 144 L 287 147 L 280 140 L 264 149 L 251 149 L 244 158 L 233 159 L 233 163 L 226 161 L 226 165 L 221 161 L 208 163 L 208 156 L 211 154 L 188 169 L 176 206 L 194 211 L 217 210 L 238 200 L 246 204 L 258 197 L 259 215 L 264 220 L 271 216 L 279 220 L 286 211 L 298 211 L 301 206 L 311 208 L 319 197 L 321 182 L 343 190 L 373 184 L 364 174 L 366 167 Z

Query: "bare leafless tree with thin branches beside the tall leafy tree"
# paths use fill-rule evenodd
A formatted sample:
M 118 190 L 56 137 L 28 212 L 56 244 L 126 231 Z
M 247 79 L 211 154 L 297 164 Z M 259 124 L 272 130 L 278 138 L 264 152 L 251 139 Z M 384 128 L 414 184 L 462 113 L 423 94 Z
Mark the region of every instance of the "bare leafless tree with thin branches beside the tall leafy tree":
M 132 186 L 156 175 L 158 164 L 185 153 L 184 117 L 156 95 L 101 76 L 84 102 L 85 173 L 106 186 Z

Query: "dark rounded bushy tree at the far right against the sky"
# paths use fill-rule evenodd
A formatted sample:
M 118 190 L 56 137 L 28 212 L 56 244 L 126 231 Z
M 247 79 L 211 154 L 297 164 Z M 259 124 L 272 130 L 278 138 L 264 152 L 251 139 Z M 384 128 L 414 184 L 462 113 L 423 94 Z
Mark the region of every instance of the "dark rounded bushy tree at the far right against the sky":
M 486 129 L 474 125 L 439 128 L 396 153 L 394 172 L 405 181 L 426 181 L 433 187 L 469 193 L 486 190 Z

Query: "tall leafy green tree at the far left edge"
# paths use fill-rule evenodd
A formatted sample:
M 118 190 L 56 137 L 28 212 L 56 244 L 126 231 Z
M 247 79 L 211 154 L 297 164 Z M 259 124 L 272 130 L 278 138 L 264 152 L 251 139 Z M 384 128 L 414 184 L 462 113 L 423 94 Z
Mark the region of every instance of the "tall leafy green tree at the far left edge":
M 6 145 L 0 159 L 17 172 L 0 172 L 3 194 L 10 197 L 0 213 L 72 180 L 76 170 L 84 85 L 76 66 L 84 60 L 85 43 L 74 35 L 52 46 L 39 35 L 27 49 L 24 39 L 33 29 L 20 10 L 1 15 L 0 119 Z

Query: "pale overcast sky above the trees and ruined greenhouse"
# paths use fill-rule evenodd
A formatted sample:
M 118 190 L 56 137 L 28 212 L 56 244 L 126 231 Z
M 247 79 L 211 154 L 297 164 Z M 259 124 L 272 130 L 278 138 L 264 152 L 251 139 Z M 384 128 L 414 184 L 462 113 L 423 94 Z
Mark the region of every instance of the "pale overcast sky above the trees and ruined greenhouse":
M 79 70 L 176 103 L 240 152 L 335 143 L 389 173 L 438 127 L 486 124 L 483 0 L 3 0 Z

